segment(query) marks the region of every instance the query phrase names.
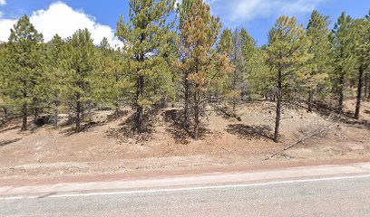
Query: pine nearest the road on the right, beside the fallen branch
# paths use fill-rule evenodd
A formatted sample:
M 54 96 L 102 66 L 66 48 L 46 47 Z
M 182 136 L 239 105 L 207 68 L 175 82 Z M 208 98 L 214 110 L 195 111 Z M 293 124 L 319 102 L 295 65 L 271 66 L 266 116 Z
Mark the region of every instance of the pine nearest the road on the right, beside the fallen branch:
M 303 66 L 310 58 L 308 45 L 305 30 L 302 25 L 297 26 L 295 17 L 280 16 L 268 33 L 270 73 L 264 79 L 274 88 L 276 95 L 275 142 L 279 140 L 282 109 L 296 97 L 305 73 Z

